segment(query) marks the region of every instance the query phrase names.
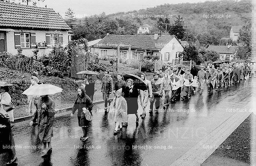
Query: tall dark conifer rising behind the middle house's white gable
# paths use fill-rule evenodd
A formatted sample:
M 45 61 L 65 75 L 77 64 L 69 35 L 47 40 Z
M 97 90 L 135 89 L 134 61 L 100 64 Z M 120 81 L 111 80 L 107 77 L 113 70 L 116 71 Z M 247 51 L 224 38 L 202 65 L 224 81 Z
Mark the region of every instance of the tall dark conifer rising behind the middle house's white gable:
M 182 39 L 185 34 L 185 29 L 183 25 L 183 17 L 180 17 L 180 15 L 178 15 L 178 17 L 176 17 L 176 20 L 174 20 L 174 24 L 170 26 L 169 34 L 176 35 L 178 39 Z

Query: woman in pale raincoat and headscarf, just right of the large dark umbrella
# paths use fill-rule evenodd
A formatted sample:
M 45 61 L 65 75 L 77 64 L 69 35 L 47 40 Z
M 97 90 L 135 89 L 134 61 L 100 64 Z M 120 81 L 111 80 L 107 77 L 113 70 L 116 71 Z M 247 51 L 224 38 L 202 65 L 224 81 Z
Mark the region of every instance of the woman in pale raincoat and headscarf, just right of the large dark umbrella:
M 143 112 L 140 115 L 142 119 L 146 117 L 146 107 L 149 102 L 149 98 L 153 97 L 152 94 L 152 86 L 150 80 L 146 79 L 146 76 L 142 73 L 140 75 L 140 78 L 142 78 L 143 82 L 147 85 L 147 90 L 139 90 L 139 95 L 140 95 L 140 105 L 142 106 Z

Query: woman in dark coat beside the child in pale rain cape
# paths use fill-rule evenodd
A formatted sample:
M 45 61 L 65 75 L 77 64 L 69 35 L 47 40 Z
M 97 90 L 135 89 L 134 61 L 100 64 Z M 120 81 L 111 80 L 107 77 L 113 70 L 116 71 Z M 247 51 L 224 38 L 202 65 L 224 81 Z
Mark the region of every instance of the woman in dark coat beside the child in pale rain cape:
M 138 97 L 139 97 L 139 90 L 136 85 L 133 85 L 132 79 L 127 79 L 127 87 L 124 89 L 124 98 L 127 102 L 127 114 L 135 114 L 136 116 L 136 125 L 139 125 L 139 118 L 138 118 Z M 128 122 L 128 116 L 127 116 Z M 125 124 L 125 126 L 127 126 Z

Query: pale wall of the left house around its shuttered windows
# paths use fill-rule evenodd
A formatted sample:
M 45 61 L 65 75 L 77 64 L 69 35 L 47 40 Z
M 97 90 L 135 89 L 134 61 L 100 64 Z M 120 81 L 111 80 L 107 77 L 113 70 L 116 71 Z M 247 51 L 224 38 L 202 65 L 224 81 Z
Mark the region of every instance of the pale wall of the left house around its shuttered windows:
M 28 32 L 28 33 L 35 33 L 35 41 L 37 43 L 46 41 L 45 34 L 46 33 L 54 33 L 54 31 L 46 31 L 46 30 L 15 30 L 15 32 Z M 63 34 L 63 45 L 68 45 L 68 31 L 59 31 L 60 34 Z M 17 54 L 17 49 L 15 49 L 14 44 L 14 31 L 10 31 L 6 34 L 7 38 L 7 52 L 13 55 Z M 22 54 L 25 56 L 33 56 L 34 53 L 32 52 L 34 49 L 30 48 L 22 48 Z M 51 48 L 40 48 L 38 52 L 38 56 L 42 56 L 43 54 L 49 54 Z

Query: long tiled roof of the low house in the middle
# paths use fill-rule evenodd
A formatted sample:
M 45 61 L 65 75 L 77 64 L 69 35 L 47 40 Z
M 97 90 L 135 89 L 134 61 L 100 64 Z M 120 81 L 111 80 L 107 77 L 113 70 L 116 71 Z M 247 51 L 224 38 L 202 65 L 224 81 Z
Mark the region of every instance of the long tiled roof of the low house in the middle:
M 131 45 L 131 49 L 161 50 L 174 37 L 174 35 L 162 35 L 154 40 L 154 35 L 106 35 L 93 47 L 117 48 L 120 44 L 120 48 L 129 48 Z

